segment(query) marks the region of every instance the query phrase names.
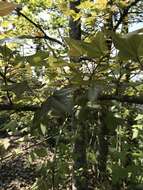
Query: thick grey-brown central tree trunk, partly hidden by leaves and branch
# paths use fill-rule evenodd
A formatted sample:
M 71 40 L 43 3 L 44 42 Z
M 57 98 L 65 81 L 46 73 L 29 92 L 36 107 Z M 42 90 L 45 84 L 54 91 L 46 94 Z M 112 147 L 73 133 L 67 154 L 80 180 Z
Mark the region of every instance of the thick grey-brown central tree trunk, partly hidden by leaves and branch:
M 78 13 L 80 10 L 76 6 L 80 4 L 80 0 L 70 1 L 69 7 L 71 10 Z M 72 17 L 69 19 L 69 36 L 75 40 L 81 40 L 81 23 L 80 19 L 74 21 Z M 75 58 L 71 57 L 73 62 Z M 74 141 L 73 159 L 74 159 L 74 184 L 77 190 L 88 190 L 86 177 L 86 124 L 81 121 L 74 122 L 77 131 Z

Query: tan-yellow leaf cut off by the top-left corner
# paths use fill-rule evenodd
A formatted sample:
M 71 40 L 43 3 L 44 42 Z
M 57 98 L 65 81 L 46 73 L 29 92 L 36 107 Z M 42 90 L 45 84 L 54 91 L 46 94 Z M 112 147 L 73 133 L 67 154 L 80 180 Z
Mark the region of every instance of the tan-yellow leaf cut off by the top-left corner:
M 0 16 L 6 16 L 16 8 L 16 4 L 0 1 Z

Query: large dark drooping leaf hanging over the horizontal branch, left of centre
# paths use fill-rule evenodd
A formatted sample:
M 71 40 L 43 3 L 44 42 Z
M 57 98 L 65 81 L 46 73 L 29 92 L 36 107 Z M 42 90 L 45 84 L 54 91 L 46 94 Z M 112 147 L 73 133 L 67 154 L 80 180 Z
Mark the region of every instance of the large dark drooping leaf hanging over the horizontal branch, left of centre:
M 48 97 L 41 105 L 41 108 L 35 112 L 33 118 L 33 125 L 31 127 L 32 133 L 37 128 L 43 135 L 46 134 L 46 126 L 49 115 L 63 116 L 66 113 L 71 113 L 73 108 L 72 90 L 60 89 L 56 90 L 53 95 Z M 49 114 L 49 115 L 48 115 Z M 46 122 L 45 122 L 46 121 Z

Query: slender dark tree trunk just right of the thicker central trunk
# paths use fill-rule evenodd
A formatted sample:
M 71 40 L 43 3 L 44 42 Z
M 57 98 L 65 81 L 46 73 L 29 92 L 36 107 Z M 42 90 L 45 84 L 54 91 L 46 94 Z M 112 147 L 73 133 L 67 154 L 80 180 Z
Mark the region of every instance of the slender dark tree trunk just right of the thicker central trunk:
M 107 6 L 112 6 L 112 0 L 108 1 Z M 111 31 L 113 29 L 113 13 L 109 12 L 108 16 L 104 20 L 103 28 L 105 30 Z M 106 44 L 108 48 L 108 54 L 106 56 L 107 62 L 110 62 L 111 56 L 111 47 L 112 47 L 112 38 L 107 34 Z M 102 189 L 108 189 L 108 175 L 107 175 L 107 160 L 108 160 L 108 126 L 106 123 L 106 115 L 109 112 L 109 107 L 106 105 L 100 105 L 101 109 L 99 110 L 98 115 L 98 183 L 100 183 Z

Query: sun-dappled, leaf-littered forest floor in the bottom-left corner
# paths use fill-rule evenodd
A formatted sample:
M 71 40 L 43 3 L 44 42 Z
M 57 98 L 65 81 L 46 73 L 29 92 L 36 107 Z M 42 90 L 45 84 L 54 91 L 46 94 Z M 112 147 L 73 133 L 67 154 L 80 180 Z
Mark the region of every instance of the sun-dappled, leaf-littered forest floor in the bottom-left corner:
M 35 142 L 15 137 L 7 139 L 10 145 L 0 160 L 0 190 L 30 190 L 38 177 L 36 163 L 31 165 L 27 159 Z

